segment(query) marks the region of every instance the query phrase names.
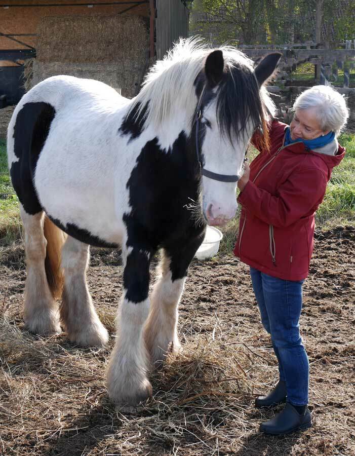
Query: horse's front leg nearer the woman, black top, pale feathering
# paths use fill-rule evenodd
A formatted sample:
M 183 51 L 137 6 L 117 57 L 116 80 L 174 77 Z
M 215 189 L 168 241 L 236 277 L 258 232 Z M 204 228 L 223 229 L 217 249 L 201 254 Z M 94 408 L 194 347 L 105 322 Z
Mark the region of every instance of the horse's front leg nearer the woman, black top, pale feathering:
M 188 266 L 201 245 L 204 232 L 184 244 L 163 249 L 159 265 L 161 276 L 156 282 L 144 338 L 154 367 L 159 366 L 169 350 L 180 349 L 177 334 L 178 306 L 184 289 Z

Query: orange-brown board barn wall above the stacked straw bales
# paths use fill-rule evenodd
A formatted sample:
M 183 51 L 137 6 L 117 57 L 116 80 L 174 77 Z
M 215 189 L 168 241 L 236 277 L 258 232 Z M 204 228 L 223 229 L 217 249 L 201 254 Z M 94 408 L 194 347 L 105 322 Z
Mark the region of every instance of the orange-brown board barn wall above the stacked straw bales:
M 98 14 L 117 15 L 131 5 L 112 5 L 112 6 L 87 6 L 79 7 L 30 7 L 30 8 L 2 8 L 2 5 L 13 4 L 49 4 L 49 3 L 80 3 L 86 0 L 0 0 L 0 31 L 3 33 L 36 33 L 36 29 L 42 18 L 47 16 L 96 16 Z M 98 0 L 93 0 L 95 3 Z M 120 0 L 105 0 L 105 2 L 117 2 Z M 124 0 L 122 0 L 124 1 Z M 89 3 L 89 2 L 88 2 Z M 149 16 L 149 4 L 143 4 L 132 8 L 125 14 Z M 37 38 L 35 36 L 18 37 L 29 45 L 36 47 Z M 0 36 L 0 49 L 22 49 L 23 45 L 17 44 L 5 37 Z

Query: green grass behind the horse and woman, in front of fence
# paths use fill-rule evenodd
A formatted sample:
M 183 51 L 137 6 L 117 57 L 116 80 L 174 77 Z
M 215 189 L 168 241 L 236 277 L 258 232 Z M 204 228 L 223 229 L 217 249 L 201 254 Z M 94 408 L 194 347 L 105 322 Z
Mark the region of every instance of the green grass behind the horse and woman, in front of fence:
M 318 228 L 331 229 L 338 225 L 355 224 L 355 134 L 343 133 L 339 143 L 346 147 L 341 164 L 334 168 L 327 193 L 316 214 Z M 250 158 L 256 155 L 251 152 Z M 236 216 L 223 231 L 220 250 L 232 251 L 239 219 Z M 9 177 L 6 143 L 0 139 L 0 245 L 10 244 L 21 236 L 18 199 Z

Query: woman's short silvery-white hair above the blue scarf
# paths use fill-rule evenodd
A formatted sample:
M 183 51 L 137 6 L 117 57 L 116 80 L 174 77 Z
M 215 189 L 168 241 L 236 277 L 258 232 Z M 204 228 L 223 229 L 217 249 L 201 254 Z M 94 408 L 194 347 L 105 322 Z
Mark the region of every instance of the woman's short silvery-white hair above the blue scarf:
M 338 136 L 349 117 L 344 97 L 330 86 L 314 86 L 299 95 L 293 109 L 317 108 L 316 117 L 323 131 Z

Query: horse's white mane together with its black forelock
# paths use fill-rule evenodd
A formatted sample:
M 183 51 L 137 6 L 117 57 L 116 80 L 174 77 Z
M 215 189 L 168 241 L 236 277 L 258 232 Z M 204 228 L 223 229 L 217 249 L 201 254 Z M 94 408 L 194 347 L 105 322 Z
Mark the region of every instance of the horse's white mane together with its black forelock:
M 235 48 L 219 49 L 223 52 L 226 78 L 217 94 L 217 119 L 230 140 L 238 139 L 249 119 L 265 128 L 266 113 L 273 115 L 275 107 L 265 88 L 258 95 L 253 61 Z M 173 116 L 179 106 L 185 110 L 190 107 L 192 116 L 196 105 L 194 82 L 213 50 L 201 39 L 181 39 L 149 70 L 142 90 L 132 100 L 128 116 L 133 115 L 142 126 L 155 127 Z

